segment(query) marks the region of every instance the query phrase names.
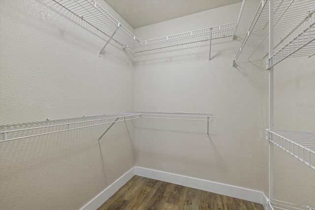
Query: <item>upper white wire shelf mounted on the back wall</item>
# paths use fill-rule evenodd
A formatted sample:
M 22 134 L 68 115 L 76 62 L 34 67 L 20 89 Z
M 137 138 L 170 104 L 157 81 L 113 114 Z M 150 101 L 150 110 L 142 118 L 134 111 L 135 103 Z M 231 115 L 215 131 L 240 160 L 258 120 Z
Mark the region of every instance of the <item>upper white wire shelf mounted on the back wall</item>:
M 170 36 L 141 41 L 140 44 L 129 44 L 125 48 L 133 53 L 140 53 L 150 50 L 157 50 L 167 47 L 174 47 L 194 42 L 208 41 L 233 36 L 236 23 L 215 26 L 207 29 L 193 30 Z

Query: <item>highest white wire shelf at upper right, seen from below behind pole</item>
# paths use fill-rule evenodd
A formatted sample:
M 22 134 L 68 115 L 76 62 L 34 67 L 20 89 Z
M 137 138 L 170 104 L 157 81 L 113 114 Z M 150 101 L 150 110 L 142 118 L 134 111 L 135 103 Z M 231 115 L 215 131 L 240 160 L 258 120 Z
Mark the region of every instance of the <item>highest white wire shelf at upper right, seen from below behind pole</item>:
M 252 1 L 246 0 L 243 13 L 250 11 Z M 300 26 L 305 25 L 315 13 L 314 0 L 274 0 L 274 49 L 282 46 L 286 37 L 295 33 Z M 245 15 L 245 14 L 244 14 Z M 252 15 L 250 13 L 249 15 Z M 240 19 L 241 21 L 242 19 Z M 240 22 L 239 25 L 242 23 Z M 238 60 L 260 60 L 268 56 L 269 35 L 269 1 L 260 1 L 258 9 L 252 19 L 252 24 L 241 44 L 241 47 L 234 59 Z

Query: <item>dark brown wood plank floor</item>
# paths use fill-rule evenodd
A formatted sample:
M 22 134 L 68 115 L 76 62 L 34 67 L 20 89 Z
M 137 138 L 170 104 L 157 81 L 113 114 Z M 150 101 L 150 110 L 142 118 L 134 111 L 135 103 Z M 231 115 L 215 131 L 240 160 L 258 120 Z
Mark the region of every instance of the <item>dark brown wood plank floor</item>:
M 260 204 L 134 176 L 98 210 L 263 210 Z

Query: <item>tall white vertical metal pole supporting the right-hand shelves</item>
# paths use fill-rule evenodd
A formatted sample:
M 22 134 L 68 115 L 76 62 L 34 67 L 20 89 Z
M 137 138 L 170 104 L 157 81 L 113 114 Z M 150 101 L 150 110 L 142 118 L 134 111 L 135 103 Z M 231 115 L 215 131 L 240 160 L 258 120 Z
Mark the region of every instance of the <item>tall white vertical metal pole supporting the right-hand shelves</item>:
M 269 0 L 269 55 L 274 51 L 274 0 Z M 272 64 L 273 59 L 270 60 Z M 269 129 L 274 129 L 274 67 L 269 69 Z M 272 137 L 269 137 L 272 138 Z M 274 144 L 269 141 L 269 200 L 273 202 Z

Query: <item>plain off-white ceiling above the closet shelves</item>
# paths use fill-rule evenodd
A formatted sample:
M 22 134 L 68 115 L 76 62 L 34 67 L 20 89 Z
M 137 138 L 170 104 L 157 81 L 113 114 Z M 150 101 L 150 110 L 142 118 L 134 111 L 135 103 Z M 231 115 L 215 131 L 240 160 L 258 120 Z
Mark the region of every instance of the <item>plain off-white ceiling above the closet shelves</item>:
M 105 0 L 133 28 L 171 20 L 242 0 Z

